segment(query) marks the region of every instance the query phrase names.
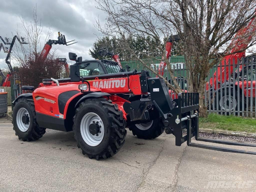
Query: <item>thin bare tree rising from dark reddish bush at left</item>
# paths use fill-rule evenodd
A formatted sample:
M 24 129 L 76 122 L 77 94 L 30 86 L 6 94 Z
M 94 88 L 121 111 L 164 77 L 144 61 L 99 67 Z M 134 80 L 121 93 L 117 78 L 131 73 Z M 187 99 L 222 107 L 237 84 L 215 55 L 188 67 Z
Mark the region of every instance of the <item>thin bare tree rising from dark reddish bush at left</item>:
M 33 20 L 29 23 L 24 21 L 23 16 L 20 17 L 22 29 L 17 29 L 15 33 L 20 37 L 20 34 L 25 33 L 28 44 L 21 45 L 16 43 L 13 48 L 13 59 L 18 63 L 17 74 L 23 85 L 33 85 L 35 87 L 44 78 L 60 78 L 65 72 L 65 67 L 56 59 L 56 49 L 48 54 L 46 59 L 40 56 L 42 47 L 40 40 L 42 34 L 46 34 L 45 42 L 52 35 L 51 26 L 47 30 L 43 30 L 41 19 L 37 18 L 37 7 L 33 10 Z

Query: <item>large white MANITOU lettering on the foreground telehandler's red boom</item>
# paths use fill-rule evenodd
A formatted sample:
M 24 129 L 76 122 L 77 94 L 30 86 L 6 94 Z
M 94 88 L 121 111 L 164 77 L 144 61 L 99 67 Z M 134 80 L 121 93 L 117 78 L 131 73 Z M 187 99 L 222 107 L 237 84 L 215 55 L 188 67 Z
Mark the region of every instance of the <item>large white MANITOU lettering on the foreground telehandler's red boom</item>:
M 92 86 L 98 89 L 109 89 L 109 88 L 123 88 L 125 86 L 126 79 L 106 80 L 106 81 L 94 81 Z

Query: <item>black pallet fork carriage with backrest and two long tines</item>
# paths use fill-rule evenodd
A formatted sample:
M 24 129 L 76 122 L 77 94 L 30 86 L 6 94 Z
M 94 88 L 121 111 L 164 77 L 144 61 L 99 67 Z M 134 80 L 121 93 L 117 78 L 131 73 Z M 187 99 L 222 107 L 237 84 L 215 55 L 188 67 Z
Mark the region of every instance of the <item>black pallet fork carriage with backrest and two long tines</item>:
M 198 117 L 198 113 L 196 113 L 198 111 L 198 106 L 199 106 L 198 93 L 179 93 L 178 99 L 176 100 L 176 102 L 177 102 L 176 104 L 178 104 L 178 108 L 176 110 L 178 115 L 175 119 L 175 124 L 173 125 L 173 133 L 176 137 L 175 144 L 177 146 L 180 146 L 182 143 L 187 141 L 187 145 L 191 147 L 199 147 L 204 149 L 231 152 L 231 153 L 243 153 L 243 154 L 256 155 L 256 152 L 191 142 L 191 138 L 195 137 L 196 141 L 205 141 L 205 142 L 219 143 L 219 144 L 225 144 L 225 145 L 256 147 L 256 145 L 249 144 L 249 143 L 239 143 L 239 142 L 223 141 L 223 140 L 199 137 L 199 117 Z M 190 113 L 191 109 L 193 111 L 195 110 L 194 114 Z M 185 117 L 184 117 L 184 113 L 187 114 Z M 182 134 L 184 133 L 183 132 L 184 129 L 186 129 L 187 135 L 182 136 Z

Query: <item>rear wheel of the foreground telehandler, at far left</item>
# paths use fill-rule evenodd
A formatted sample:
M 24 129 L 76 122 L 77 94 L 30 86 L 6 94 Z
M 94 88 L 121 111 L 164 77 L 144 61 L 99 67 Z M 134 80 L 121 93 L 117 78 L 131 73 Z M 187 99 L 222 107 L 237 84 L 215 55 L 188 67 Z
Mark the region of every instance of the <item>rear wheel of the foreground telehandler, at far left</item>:
M 36 122 L 36 111 L 33 98 L 19 99 L 13 108 L 13 130 L 19 140 L 34 141 L 45 134 L 45 129 Z

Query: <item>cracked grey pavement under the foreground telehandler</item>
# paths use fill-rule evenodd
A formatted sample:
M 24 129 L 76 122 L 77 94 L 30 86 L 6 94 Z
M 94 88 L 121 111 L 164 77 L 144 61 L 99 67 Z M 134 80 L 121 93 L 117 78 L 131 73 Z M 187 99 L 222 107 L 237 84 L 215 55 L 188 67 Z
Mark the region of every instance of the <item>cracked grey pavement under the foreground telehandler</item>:
M 256 155 L 179 147 L 173 135 L 142 140 L 128 131 L 115 156 L 96 161 L 82 155 L 73 132 L 47 130 L 23 142 L 0 123 L 0 146 L 1 192 L 256 191 Z

